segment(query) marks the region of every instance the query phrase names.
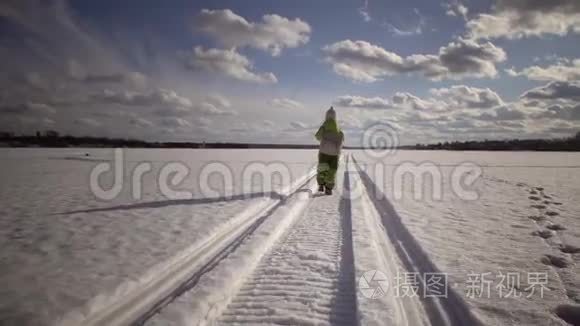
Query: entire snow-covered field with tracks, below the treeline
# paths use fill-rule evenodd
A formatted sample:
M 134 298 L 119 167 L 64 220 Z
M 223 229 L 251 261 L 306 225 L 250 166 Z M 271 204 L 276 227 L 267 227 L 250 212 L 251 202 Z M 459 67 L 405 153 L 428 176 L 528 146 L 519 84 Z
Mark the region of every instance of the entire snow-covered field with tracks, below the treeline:
M 0 324 L 579 323 L 580 154 L 122 153 L 0 150 Z

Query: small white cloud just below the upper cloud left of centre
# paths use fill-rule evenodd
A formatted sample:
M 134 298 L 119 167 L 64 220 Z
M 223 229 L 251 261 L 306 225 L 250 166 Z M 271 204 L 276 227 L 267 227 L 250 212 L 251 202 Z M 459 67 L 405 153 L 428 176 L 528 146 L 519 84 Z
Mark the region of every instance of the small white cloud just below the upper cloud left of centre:
M 204 50 L 196 46 L 192 53 L 183 54 L 186 66 L 191 69 L 219 73 L 234 79 L 261 84 L 277 83 L 278 79 L 271 73 L 257 73 L 252 71 L 253 65 L 248 58 L 236 52 L 235 49 Z

